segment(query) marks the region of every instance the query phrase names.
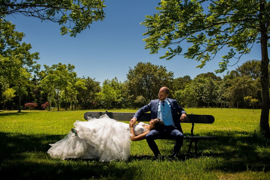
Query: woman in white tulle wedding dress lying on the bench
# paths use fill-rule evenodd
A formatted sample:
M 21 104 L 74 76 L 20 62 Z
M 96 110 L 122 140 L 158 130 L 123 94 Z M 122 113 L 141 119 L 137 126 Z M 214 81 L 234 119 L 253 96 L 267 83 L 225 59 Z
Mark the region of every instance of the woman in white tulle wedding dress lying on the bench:
M 64 139 L 49 144 L 48 153 L 53 158 L 86 158 L 112 161 L 128 160 L 131 141 L 144 140 L 152 129 L 161 129 L 160 119 L 151 119 L 149 124 L 139 122 L 128 125 L 110 119 L 106 114 L 99 119 L 77 120 L 75 128 Z

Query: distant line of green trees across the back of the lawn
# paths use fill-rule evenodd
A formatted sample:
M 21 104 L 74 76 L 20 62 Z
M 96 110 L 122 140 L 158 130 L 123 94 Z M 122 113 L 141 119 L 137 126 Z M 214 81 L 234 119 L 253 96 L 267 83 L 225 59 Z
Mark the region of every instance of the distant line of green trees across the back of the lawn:
M 223 107 L 235 108 L 238 103 L 239 108 L 250 108 L 251 100 L 255 108 L 260 107 L 259 60 L 249 60 L 223 78 L 209 72 L 194 79 L 174 78 L 164 66 L 140 62 L 130 67 L 124 82 L 115 77 L 101 83 L 95 78 L 77 77 L 72 64 L 44 65 L 41 70 L 39 53 L 31 53 L 32 46 L 22 42 L 23 37 L 15 25 L 1 19 L 1 109 L 134 109 L 156 99 L 162 86 L 170 88 L 170 98 L 177 99 L 182 107 L 221 107 L 222 103 Z

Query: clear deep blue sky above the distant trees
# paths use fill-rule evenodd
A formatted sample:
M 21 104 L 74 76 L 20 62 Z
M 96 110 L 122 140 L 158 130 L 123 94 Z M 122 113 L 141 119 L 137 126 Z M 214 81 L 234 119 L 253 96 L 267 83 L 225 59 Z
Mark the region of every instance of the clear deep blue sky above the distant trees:
M 126 1 L 105 0 L 105 19 L 93 22 L 90 29 L 85 29 L 77 34 L 76 38 L 69 35 L 60 35 L 60 26 L 57 23 L 41 22 L 40 19 L 14 14 L 6 19 L 16 25 L 16 31 L 24 32 L 24 42 L 32 45 L 31 52 L 39 52 L 38 63 L 43 65 L 73 64 L 79 77 L 89 76 L 97 81 L 112 79 L 115 76 L 119 81 L 126 80 L 129 67 L 134 68 L 138 62 L 151 62 L 156 65 L 163 65 L 168 71 L 174 72 L 174 77 L 189 75 L 192 79 L 200 74 L 214 72 L 218 69 L 218 62 L 221 56 L 227 52 L 220 52 L 216 58 L 202 69 L 196 68 L 200 63 L 175 56 L 170 61 L 159 59 L 164 51 L 150 55 L 149 49 L 144 49 L 146 38 L 142 34 L 146 27 L 140 25 L 146 15 L 153 15 L 158 12 L 158 0 L 137 0 Z M 184 44 L 187 47 L 189 44 Z M 228 70 L 235 70 L 247 60 L 261 59 L 260 45 L 254 44 L 249 55 L 243 55 L 233 67 Z M 230 64 L 234 64 L 232 59 Z M 226 72 L 217 74 L 223 77 Z

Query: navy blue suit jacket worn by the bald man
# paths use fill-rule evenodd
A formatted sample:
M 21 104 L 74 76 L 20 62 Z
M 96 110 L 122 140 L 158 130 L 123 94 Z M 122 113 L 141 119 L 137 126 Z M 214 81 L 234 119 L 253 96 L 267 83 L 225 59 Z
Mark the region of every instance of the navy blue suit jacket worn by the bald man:
M 177 101 L 175 99 L 170 99 L 170 98 L 167 98 L 167 99 L 168 99 L 168 101 L 170 102 L 170 105 L 171 105 L 174 125 L 180 132 L 183 133 L 181 125 L 180 125 L 180 119 L 178 118 L 178 113 L 183 114 L 183 113 L 186 113 L 186 112 L 182 107 L 180 107 L 177 104 Z M 159 99 L 151 100 L 149 104 L 147 104 L 146 106 L 140 108 L 135 113 L 134 117 L 138 118 L 143 113 L 146 113 L 146 112 L 150 111 L 151 119 L 156 119 L 157 116 L 158 116 L 158 103 L 159 103 Z

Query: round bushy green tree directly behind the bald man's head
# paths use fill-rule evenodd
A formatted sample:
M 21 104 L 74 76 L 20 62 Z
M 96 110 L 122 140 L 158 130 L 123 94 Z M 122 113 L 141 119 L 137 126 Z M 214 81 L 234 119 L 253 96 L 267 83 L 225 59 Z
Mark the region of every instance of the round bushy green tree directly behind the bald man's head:
M 130 95 L 133 95 L 133 102 L 140 95 L 151 101 L 157 98 L 162 86 L 172 88 L 173 72 L 168 72 L 164 66 L 139 62 L 134 69 L 129 69 L 126 83 Z

